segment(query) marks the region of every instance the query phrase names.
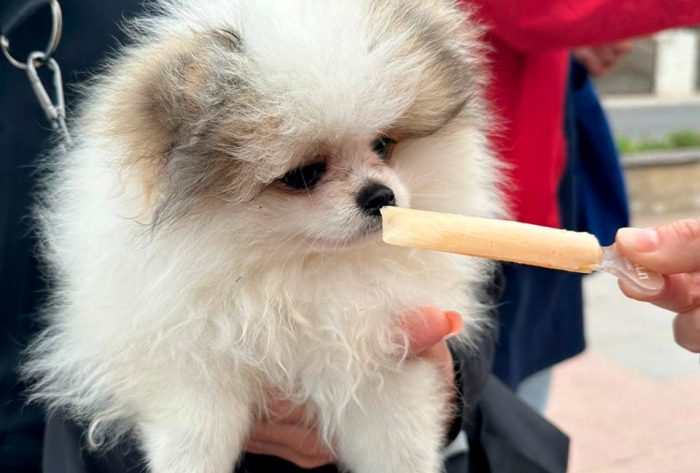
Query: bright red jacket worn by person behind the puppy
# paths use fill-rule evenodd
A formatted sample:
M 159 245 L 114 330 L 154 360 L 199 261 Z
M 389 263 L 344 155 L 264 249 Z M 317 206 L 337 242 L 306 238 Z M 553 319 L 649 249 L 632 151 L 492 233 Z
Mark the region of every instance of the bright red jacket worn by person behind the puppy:
M 496 150 L 516 220 L 559 226 L 568 50 L 700 23 L 700 0 L 462 0 L 492 46 Z

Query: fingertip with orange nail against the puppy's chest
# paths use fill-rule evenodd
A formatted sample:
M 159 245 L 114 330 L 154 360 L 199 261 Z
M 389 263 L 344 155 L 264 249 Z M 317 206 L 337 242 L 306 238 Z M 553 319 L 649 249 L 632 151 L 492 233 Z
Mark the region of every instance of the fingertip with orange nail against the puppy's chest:
M 408 334 L 409 348 L 420 355 L 441 341 L 462 332 L 462 316 L 432 307 L 410 311 L 402 317 L 401 325 Z

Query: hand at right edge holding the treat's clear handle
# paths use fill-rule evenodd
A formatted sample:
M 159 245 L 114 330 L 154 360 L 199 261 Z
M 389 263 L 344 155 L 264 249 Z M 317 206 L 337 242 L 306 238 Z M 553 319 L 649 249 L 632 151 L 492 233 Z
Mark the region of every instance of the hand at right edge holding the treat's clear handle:
M 623 228 L 617 233 L 616 243 L 631 262 L 665 275 L 664 289 L 659 294 L 639 294 L 620 283 L 622 292 L 676 312 L 676 342 L 700 353 L 700 219 L 657 228 Z

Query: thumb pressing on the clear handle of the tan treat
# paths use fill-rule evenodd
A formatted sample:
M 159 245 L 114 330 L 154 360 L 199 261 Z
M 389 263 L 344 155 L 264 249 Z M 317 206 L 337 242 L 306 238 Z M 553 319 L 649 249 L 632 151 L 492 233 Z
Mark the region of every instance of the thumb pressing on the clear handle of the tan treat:
M 658 273 L 700 270 L 700 219 L 656 228 L 622 228 L 616 244 L 630 261 Z

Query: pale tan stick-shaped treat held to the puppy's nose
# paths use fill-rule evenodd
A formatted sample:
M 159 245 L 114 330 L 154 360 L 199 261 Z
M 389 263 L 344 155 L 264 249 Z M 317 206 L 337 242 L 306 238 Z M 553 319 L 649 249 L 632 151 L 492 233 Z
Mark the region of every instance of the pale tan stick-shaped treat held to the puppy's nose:
M 591 273 L 603 260 L 590 233 L 399 207 L 381 212 L 383 240 L 390 245 L 577 273 Z

